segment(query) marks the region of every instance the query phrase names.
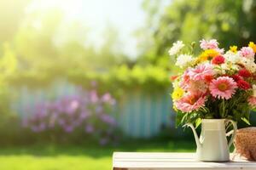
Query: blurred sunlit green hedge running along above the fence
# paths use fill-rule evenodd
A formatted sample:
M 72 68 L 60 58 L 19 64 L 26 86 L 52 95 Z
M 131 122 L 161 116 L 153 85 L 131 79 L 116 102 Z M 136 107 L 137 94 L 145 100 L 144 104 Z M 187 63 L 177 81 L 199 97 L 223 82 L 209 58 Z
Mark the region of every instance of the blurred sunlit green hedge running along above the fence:
M 109 71 L 20 71 L 9 77 L 7 82 L 13 87 L 26 85 L 29 88 L 44 88 L 57 78 L 67 78 L 69 82 L 90 88 L 96 82 L 99 89 L 119 91 L 128 88 L 163 90 L 170 86 L 169 73 L 159 66 L 126 65 L 114 67 Z

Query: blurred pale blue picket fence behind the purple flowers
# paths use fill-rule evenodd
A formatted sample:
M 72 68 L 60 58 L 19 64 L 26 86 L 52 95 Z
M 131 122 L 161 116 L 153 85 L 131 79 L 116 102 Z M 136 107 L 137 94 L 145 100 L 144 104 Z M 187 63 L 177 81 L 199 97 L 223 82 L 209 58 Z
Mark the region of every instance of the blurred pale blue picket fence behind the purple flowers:
M 44 89 L 15 88 L 12 109 L 21 117 L 28 116 L 38 103 L 61 96 L 79 94 L 79 88 L 58 80 Z M 172 103 L 168 92 L 150 94 L 143 90 L 129 91 L 117 102 L 114 116 L 128 136 L 149 138 L 158 134 L 163 125 L 174 127 Z

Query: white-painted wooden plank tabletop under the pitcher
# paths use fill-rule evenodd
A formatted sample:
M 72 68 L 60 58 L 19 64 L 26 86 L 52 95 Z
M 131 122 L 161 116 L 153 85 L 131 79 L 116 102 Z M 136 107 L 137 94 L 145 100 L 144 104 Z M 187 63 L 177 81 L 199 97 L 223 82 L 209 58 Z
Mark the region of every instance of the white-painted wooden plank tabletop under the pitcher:
M 256 170 L 256 161 L 201 162 L 194 153 L 113 153 L 113 170 Z

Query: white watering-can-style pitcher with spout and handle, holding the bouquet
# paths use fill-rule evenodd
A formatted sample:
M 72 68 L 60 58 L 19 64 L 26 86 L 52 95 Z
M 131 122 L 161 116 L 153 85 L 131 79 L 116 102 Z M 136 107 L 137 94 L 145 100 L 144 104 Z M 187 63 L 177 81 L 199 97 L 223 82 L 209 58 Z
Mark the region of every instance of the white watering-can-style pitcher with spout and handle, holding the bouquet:
M 231 123 L 233 130 L 226 133 L 225 125 Z M 196 156 L 199 161 L 230 161 L 230 146 L 236 136 L 236 122 L 227 119 L 202 119 L 201 136 L 198 138 L 195 127 L 192 128 L 197 145 Z M 232 133 L 228 144 L 226 136 Z

